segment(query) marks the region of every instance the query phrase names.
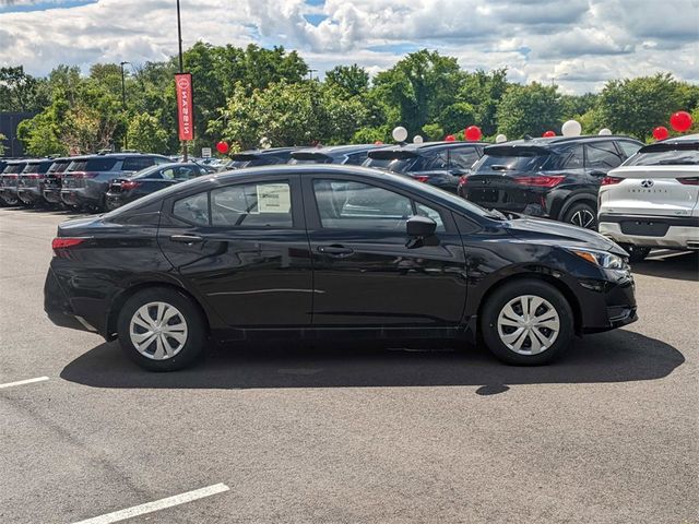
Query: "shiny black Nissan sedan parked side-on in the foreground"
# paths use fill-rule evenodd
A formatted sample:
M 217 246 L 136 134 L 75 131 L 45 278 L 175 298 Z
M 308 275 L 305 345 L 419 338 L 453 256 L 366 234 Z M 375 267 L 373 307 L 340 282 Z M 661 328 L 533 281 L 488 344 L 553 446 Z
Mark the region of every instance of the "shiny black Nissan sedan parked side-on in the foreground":
M 200 177 L 58 227 L 45 310 L 150 370 L 209 340 L 482 338 L 540 365 L 637 320 L 627 253 L 410 177 L 268 166 Z

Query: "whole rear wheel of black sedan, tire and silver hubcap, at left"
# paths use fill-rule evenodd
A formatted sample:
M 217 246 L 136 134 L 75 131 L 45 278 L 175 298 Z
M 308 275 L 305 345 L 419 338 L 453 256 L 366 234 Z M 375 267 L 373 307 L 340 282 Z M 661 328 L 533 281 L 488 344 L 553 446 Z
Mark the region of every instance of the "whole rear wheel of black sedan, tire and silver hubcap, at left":
M 126 301 L 117 332 L 127 356 L 151 371 L 189 366 L 206 343 L 199 308 L 181 293 L 161 287 L 139 291 Z

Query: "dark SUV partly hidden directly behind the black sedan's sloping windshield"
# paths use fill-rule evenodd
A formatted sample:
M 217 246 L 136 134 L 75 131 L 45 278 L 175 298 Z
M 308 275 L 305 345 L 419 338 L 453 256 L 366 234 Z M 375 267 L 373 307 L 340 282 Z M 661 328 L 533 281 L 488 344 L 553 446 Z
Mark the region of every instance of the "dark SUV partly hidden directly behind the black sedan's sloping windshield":
M 381 147 L 369 152 L 364 166 L 407 175 L 455 193 L 459 177 L 483 156 L 485 145 L 479 142 L 426 142 Z

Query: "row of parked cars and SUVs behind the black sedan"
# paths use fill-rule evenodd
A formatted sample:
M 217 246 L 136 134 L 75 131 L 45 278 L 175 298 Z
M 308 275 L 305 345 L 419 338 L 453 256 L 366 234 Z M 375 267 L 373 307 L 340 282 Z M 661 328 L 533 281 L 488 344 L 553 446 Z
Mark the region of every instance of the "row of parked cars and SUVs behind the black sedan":
M 496 145 L 428 142 L 274 147 L 234 154 L 223 166 L 174 163 L 162 155 L 141 153 L 4 160 L 5 166 L 0 164 L 0 169 L 4 167 L 0 204 L 60 204 L 110 211 L 168 186 L 218 170 L 276 164 L 362 165 L 410 176 L 503 214 L 540 216 L 589 229 L 600 228 L 616 235 L 632 258 L 641 259 L 650 249 L 643 246 L 635 250 L 633 233 L 666 234 L 671 225 L 665 227 L 666 221 L 660 224 L 660 216 L 670 212 L 677 222 L 673 224 L 684 227 L 687 221 L 690 226 L 694 214 L 699 213 L 695 194 L 699 191 L 697 143 L 697 135 L 690 135 L 643 147 L 641 142 L 628 136 L 592 135 L 518 140 Z M 627 159 L 620 168 L 624 178 L 609 176 Z M 629 169 L 629 165 L 636 167 Z M 678 165 L 685 167 L 678 170 Z M 662 181 L 656 184 L 655 179 L 664 172 L 670 186 Z M 644 179 L 647 175 L 649 178 Z M 631 210 L 633 216 L 639 214 L 638 207 L 645 205 L 639 204 L 639 198 L 641 202 L 659 202 L 641 213 L 645 217 L 642 221 L 620 219 L 621 209 Z M 636 204 L 619 203 L 618 199 L 630 199 Z M 609 223 L 609 216 L 616 222 Z M 603 225 L 599 224 L 600 218 Z M 662 241 L 651 245 L 697 249 L 691 231 L 685 231 L 686 239 L 675 242 L 676 246 L 672 242 L 664 246 Z

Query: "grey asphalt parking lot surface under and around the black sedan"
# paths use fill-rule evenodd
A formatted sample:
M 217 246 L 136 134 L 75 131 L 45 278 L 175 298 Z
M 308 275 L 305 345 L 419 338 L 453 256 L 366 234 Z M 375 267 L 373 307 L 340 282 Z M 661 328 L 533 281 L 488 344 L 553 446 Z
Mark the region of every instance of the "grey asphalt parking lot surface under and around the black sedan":
M 640 321 L 547 367 L 295 343 L 154 374 L 45 317 L 70 216 L 0 209 L 2 523 L 696 522 L 697 253 L 637 264 Z

